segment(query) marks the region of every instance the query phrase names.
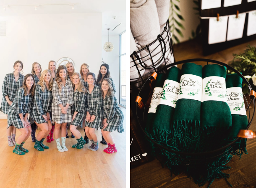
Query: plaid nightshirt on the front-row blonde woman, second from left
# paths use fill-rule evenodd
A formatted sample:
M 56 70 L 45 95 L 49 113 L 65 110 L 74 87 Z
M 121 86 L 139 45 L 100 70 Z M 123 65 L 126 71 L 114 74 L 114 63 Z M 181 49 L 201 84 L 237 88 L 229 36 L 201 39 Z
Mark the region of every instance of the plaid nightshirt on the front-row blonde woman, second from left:
M 34 102 L 31 106 L 31 124 L 35 121 L 39 124 L 47 123 L 42 115 L 46 115 L 47 112 L 51 112 L 52 106 L 52 91 L 49 91 L 45 87 L 44 92 L 40 85 L 37 84 L 35 93 L 34 93 Z

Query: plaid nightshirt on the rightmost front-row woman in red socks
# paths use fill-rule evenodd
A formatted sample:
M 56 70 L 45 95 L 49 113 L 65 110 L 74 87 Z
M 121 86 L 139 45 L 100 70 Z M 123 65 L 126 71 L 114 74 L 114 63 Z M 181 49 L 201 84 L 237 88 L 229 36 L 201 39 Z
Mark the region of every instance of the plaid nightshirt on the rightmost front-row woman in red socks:
M 123 130 L 123 112 L 118 107 L 118 102 L 115 96 L 106 96 L 103 99 L 103 119 L 107 118 L 107 127 L 103 129 L 104 131 L 115 131 L 118 130 L 119 133 L 124 132 Z M 101 129 L 103 125 L 101 126 Z

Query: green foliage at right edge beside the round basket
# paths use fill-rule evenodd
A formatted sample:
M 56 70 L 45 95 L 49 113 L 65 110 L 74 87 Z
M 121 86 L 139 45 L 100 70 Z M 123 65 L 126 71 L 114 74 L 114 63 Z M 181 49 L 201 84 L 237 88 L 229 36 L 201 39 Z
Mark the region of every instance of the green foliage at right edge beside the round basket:
M 230 65 L 234 67 L 234 69 L 239 71 L 243 76 L 253 76 L 253 74 L 256 74 L 256 48 L 254 46 L 248 44 L 244 53 L 233 53 L 233 56 L 234 59 L 230 62 Z M 228 73 L 232 74 L 235 72 L 228 71 Z M 251 81 L 251 79 L 248 79 L 248 81 Z M 244 94 L 249 94 L 247 84 L 242 84 L 242 90 Z

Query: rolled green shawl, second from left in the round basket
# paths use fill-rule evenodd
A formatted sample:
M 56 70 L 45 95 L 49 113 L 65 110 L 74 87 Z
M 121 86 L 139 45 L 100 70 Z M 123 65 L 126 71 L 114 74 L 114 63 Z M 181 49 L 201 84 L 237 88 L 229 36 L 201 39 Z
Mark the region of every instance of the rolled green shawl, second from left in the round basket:
M 180 69 L 172 66 L 167 71 L 167 78 L 160 97 L 160 101 L 162 101 L 160 103 L 162 104 L 157 106 L 152 128 L 152 135 L 156 140 L 163 143 L 167 142 L 171 137 L 171 122 L 179 92 L 179 81 Z

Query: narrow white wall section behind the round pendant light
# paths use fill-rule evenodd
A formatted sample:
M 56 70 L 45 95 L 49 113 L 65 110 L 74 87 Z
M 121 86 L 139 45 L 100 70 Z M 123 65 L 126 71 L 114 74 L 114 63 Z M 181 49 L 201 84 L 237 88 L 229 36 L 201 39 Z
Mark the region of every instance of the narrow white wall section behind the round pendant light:
M 114 49 L 111 52 L 106 52 L 103 49 L 104 43 L 108 41 L 108 36 L 102 36 L 102 58 L 104 63 L 110 66 L 110 76 L 112 77 L 115 84 L 115 97 L 119 104 L 119 74 L 120 74 L 120 64 L 119 64 L 119 49 L 120 49 L 120 36 L 110 35 L 110 42 L 113 43 Z M 98 74 L 98 73 L 97 73 Z

